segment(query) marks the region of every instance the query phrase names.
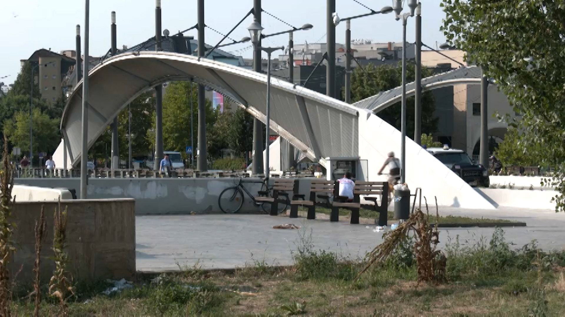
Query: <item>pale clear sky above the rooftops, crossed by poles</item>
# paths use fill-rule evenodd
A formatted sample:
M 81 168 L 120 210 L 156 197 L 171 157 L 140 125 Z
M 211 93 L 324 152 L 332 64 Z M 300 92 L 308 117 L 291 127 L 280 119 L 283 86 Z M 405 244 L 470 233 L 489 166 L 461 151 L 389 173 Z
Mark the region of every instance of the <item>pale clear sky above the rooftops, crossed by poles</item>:
M 75 49 L 76 25 L 81 25 L 84 41 L 84 0 L 0 0 L 0 82 L 14 82 L 20 71 L 20 60 L 28 59 L 38 49 L 54 52 Z M 336 12 L 343 19 L 392 6 L 392 0 L 336 0 Z M 445 42 L 440 26 L 445 14 L 441 0 L 421 0 L 422 42 L 436 47 Z M 196 0 L 162 0 L 163 30 L 171 34 L 188 29 L 197 23 Z M 205 23 L 208 27 L 227 33 L 253 7 L 253 0 L 205 0 Z M 314 28 L 294 33 L 294 43 L 325 42 L 326 0 L 263 0 L 264 11 L 294 27 L 310 23 Z M 408 12 L 405 4 L 405 11 Z M 90 1 L 90 56 L 100 56 L 110 49 L 110 14 L 116 11 L 118 47 L 131 47 L 155 34 L 155 0 L 92 0 Z M 231 37 L 240 40 L 249 36 L 247 27 L 253 16 L 236 28 Z M 264 34 L 281 32 L 290 27 L 263 12 Z M 222 36 L 206 28 L 206 43 L 215 45 Z M 197 37 L 196 30 L 185 33 Z M 373 42 L 402 42 L 402 23 L 394 14 L 373 15 L 351 21 L 352 39 L 371 39 Z M 345 40 L 345 23 L 336 27 L 336 42 Z M 407 41 L 414 42 L 414 19 L 408 19 Z M 224 42 L 227 43 L 227 42 Z M 271 37 L 264 46 L 286 46 L 288 35 Z M 251 56 L 250 43 L 225 47 L 236 55 Z M 84 53 L 84 43 L 82 47 Z

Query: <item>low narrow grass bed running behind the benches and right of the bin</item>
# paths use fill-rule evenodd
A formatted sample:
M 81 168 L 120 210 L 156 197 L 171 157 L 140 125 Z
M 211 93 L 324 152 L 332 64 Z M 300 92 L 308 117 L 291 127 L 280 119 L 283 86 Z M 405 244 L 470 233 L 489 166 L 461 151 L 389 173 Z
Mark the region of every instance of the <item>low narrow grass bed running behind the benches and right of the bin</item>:
M 306 208 L 299 208 L 301 211 L 307 211 Z M 323 207 L 316 207 L 316 213 L 323 213 L 323 214 L 330 214 L 332 212 L 329 208 Z M 340 216 L 349 216 L 351 215 L 351 210 L 340 208 Z M 360 218 L 368 218 L 368 219 L 377 219 L 379 218 L 379 213 L 375 212 L 374 210 L 369 209 L 360 209 L 359 210 L 359 217 Z M 394 212 L 388 212 L 387 215 L 388 220 L 394 220 Z M 471 218 L 471 217 L 464 217 L 464 216 L 455 216 L 455 215 L 446 215 L 440 216 L 439 218 L 436 215 L 429 215 L 429 222 L 430 223 L 453 223 L 453 224 L 471 224 L 471 223 L 516 223 L 515 221 L 510 221 L 507 219 L 489 219 L 489 218 Z

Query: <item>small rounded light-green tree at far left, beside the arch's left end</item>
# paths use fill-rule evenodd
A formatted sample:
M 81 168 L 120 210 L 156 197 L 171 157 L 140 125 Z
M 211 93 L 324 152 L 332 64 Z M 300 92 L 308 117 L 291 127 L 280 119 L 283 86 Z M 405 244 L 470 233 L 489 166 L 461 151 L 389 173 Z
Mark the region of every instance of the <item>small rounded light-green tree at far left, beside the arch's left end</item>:
M 60 143 L 59 122 L 50 118 L 40 109 L 33 109 L 33 153 L 47 152 L 52 154 Z M 16 112 L 14 118 L 4 122 L 4 133 L 10 143 L 21 148 L 22 152 L 29 151 L 29 113 Z

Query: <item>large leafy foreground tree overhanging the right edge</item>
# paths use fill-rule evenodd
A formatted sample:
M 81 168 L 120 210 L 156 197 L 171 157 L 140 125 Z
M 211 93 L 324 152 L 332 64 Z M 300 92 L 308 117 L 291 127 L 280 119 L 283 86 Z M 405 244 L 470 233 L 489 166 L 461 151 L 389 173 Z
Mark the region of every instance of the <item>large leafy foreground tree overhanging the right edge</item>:
M 444 0 L 442 6 L 447 40 L 467 52 L 468 62 L 483 67 L 521 115 L 509 120 L 510 137 L 499 152 L 514 147 L 534 165 L 554 168 L 553 185 L 560 193 L 556 211 L 563 211 L 565 1 Z

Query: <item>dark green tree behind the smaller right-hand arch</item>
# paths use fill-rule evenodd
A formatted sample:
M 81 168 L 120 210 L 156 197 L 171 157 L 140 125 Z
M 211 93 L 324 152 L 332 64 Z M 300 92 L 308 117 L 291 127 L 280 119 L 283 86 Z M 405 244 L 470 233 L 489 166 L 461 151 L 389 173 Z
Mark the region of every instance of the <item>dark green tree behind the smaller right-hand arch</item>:
M 357 67 L 353 71 L 353 76 L 351 77 L 351 100 L 353 100 L 353 102 L 402 85 L 401 65 L 380 65 L 375 67 L 373 64 L 368 64 L 364 67 L 364 70 L 365 71 Z M 428 77 L 431 76 L 431 74 L 429 69 L 422 69 L 422 77 Z M 408 82 L 414 81 L 414 64 L 407 64 L 406 78 Z M 406 100 L 406 109 L 406 134 L 412 138 L 414 137 L 414 97 L 410 97 Z M 438 118 L 433 116 L 435 109 L 432 93 L 429 91 L 424 92 L 422 94 L 421 114 L 422 133 L 434 133 L 437 131 Z M 377 115 L 397 129 L 400 129 L 400 103 L 391 105 L 383 111 L 378 112 Z

